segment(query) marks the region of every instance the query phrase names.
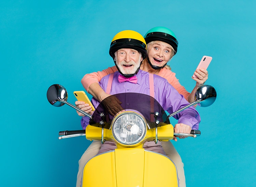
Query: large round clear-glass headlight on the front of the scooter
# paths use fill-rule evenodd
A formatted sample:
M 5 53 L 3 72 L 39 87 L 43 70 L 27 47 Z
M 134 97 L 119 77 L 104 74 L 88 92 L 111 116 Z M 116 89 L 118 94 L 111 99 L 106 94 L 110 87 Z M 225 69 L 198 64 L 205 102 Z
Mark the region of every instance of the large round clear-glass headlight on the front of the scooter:
M 146 120 L 136 112 L 120 113 L 112 122 L 112 133 L 119 143 L 135 145 L 146 135 Z

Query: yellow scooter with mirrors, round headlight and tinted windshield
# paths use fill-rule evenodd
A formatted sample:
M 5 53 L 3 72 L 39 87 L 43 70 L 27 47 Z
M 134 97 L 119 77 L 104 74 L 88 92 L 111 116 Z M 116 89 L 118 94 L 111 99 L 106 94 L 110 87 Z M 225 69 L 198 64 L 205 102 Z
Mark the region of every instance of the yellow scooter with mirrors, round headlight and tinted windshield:
M 49 87 L 47 99 L 54 106 L 68 104 L 90 118 L 86 130 L 61 131 L 59 139 L 86 136 L 88 140 L 104 143 L 112 141 L 117 149 L 91 158 L 85 165 L 82 187 L 178 187 L 176 166 L 167 156 L 143 149 L 146 141 L 169 141 L 173 136 L 200 136 L 200 131 L 191 134 L 174 133 L 169 118 L 187 107 L 198 104 L 210 106 L 216 99 L 216 90 L 210 85 L 198 88 L 195 102 L 166 115 L 161 105 L 152 97 L 138 93 L 122 93 L 104 99 L 93 115 L 81 111 L 67 102 L 66 89 L 55 84 Z M 106 105 L 119 99 L 123 110 L 109 115 Z M 85 133 L 86 132 L 86 133 Z

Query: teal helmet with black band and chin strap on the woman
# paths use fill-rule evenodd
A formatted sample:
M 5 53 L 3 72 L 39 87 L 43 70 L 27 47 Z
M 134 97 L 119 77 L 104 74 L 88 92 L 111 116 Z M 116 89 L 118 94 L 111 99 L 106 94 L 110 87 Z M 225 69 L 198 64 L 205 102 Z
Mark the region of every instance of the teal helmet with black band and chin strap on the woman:
M 144 39 L 146 41 L 146 44 L 150 43 L 151 41 L 163 41 L 173 47 L 174 55 L 177 53 L 178 41 L 176 39 L 176 36 L 170 29 L 166 27 L 154 27 L 150 29 L 145 34 Z M 161 69 L 165 67 L 167 64 L 166 63 L 165 65 L 159 67 L 159 66 L 152 65 L 148 57 L 147 57 L 147 61 L 148 61 L 148 64 L 150 64 L 150 66 L 153 69 Z

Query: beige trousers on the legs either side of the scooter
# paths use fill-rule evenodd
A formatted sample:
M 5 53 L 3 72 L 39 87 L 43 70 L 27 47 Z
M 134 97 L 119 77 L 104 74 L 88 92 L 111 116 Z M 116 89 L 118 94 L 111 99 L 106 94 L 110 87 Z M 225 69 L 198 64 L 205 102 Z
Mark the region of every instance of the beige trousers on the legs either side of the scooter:
M 179 153 L 176 151 L 176 149 L 174 148 L 174 146 L 170 141 L 162 141 L 161 143 L 166 155 L 176 165 L 179 180 L 180 180 L 180 187 L 185 187 L 186 183 L 185 183 L 185 174 L 183 169 L 184 165 L 182 163 Z M 78 162 L 79 168 L 78 168 L 78 174 L 77 174 L 76 187 L 80 187 L 85 164 L 88 162 L 89 159 L 97 155 L 100 148 L 101 148 L 101 141 L 93 141 L 91 145 L 87 148 L 87 150 L 84 152 L 84 154 L 82 155 L 81 159 Z

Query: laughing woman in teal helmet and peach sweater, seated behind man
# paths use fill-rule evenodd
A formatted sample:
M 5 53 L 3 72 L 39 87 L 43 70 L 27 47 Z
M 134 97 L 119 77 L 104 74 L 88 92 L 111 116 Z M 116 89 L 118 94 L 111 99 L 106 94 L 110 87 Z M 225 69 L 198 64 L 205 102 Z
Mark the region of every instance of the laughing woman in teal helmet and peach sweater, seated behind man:
M 188 102 L 194 101 L 194 94 L 197 88 L 202 86 L 204 82 L 208 79 L 208 72 L 205 69 L 200 69 L 195 71 L 195 75 L 198 78 L 193 78 L 196 81 L 195 88 L 189 93 L 186 89 L 179 83 L 179 80 L 175 77 L 175 73 L 171 71 L 170 66 L 167 65 L 168 61 L 176 54 L 178 41 L 175 34 L 168 28 L 165 27 L 155 27 L 149 30 L 145 36 L 145 41 L 147 43 L 147 52 L 148 57 L 142 62 L 140 69 L 147 71 L 149 73 L 157 74 L 160 77 L 163 77 L 168 80 L 168 82 L 181 94 Z M 86 91 L 91 94 L 98 101 L 102 101 L 109 94 L 106 94 L 102 88 L 99 86 L 98 82 L 105 76 L 110 73 L 117 71 L 116 66 L 109 67 L 103 71 L 98 71 L 90 74 L 86 74 L 82 79 L 82 84 Z M 76 101 L 76 106 L 81 108 L 86 113 L 92 114 L 91 107 L 81 101 Z M 115 111 L 114 108 L 113 113 Z M 78 113 L 80 116 L 83 114 Z M 174 126 L 174 131 L 179 132 L 179 126 Z M 174 140 L 177 141 L 177 138 L 174 137 Z M 77 186 L 80 185 L 82 178 L 83 167 L 86 162 L 93 156 L 95 156 L 101 146 L 100 141 L 94 141 L 85 151 L 81 159 L 79 160 L 79 172 L 77 174 Z M 166 152 L 166 155 L 174 162 L 177 168 L 180 186 L 186 186 L 185 184 L 185 175 L 183 169 L 183 163 L 179 153 L 175 150 L 170 141 L 162 142 L 162 147 Z

